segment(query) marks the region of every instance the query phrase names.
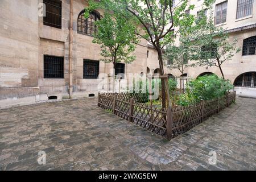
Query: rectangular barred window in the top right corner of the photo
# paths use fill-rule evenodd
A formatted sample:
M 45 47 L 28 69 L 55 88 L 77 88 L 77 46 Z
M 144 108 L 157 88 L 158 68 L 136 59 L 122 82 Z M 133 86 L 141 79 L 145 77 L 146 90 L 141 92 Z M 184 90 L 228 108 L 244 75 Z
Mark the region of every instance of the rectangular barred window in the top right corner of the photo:
M 253 14 L 253 0 L 237 1 L 237 19 Z

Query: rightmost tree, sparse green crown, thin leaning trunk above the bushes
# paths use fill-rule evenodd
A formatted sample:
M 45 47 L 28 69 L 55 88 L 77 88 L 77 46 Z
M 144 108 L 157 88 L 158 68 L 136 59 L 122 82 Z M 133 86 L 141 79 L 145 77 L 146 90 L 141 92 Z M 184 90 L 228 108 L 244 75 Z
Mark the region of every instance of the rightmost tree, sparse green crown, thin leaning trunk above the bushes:
M 222 64 L 241 51 L 236 46 L 237 39 L 230 42 L 228 32 L 214 25 L 213 11 L 209 18 L 201 18 L 199 22 L 200 31 L 194 31 L 188 40 L 195 53 L 193 59 L 197 60 L 199 66 L 218 67 L 225 79 Z

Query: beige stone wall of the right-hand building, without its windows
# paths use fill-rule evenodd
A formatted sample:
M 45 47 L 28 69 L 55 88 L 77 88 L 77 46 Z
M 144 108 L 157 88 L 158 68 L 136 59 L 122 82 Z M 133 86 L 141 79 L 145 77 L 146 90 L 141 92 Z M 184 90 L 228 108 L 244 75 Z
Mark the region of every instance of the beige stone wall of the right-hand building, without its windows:
M 224 0 L 217 0 L 213 6 L 213 11 L 218 3 L 224 2 Z M 195 5 L 195 9 L 191 10 L 191 14 L 197 15 L 197 11 L 202 9 L 203 1 L 191 0 L 191 5 Z M 237 12 L 237 0 L 228 0 L 228 9 L 227 9 L 227 18 L 226 23 L 220 24 L 218 26 L 222 26 L 227 30 L 232 28 L 247 26 L 250 24 L 256 23 L 256 0 L 253 1 L 253 14 L 247 16 L 245 18 L 236 19 Z M 210 12 L 208 11 L 208 14 Z M 236 37 L 238 42 L 237 46 L 242 48 L 243 40 L 249 38 L 250 36 L 256 35 L 256 29 L 251 29 L 247 31 L 233 32 L 229 35 L 230 42 Z M 178 40 L 176 40 L 178 43 Z M 238 76 L 245 72 L 256 72 L 256 55 L 250 56 L 242 56 L 242 52 L 237 53 L 232 60 L 226 61 L 222 65 L 225 78 L 234 82 Z M 189 78 L 196 78 L 201 73 L 204 72 L 212 72 L 218 76 L 221 76 L 220 70 L 217 67 L 196 67 L 196 68 L 187 68 L 185 69 L 185 73 L 188 73 Z M 171 70 L 172 75 L 180 76 L 181 73 L 177 70 Z

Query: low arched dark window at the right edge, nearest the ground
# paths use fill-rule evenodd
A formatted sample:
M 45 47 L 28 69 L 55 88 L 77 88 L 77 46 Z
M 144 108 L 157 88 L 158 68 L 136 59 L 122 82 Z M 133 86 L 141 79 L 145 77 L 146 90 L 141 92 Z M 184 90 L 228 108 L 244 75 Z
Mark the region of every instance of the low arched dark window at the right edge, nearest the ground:
M 234 86 L 256 87 L 256 72 L 247 72 L 238 76 L 234 81 Z

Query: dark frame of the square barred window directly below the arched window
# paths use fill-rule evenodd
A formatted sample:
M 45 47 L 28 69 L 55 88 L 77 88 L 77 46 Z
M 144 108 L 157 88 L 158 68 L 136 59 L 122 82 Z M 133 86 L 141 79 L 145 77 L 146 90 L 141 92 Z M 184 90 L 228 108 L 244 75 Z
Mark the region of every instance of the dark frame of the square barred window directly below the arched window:
M 90 67 L 95 67 L 95 71 L 96 73 L 94 74 L 86 74 L 86 64 L 85 63 L 89 63 L 91 65 L 87 65 Z M 94 65 L 93 65 L 94 64 Z M 84 59 L 83 60 L 83 71 L 82 71 L 82 78 L 83 79 L 98 79 L 98 75 L 100 75 L 100 61 L 97 60 L 89 60 L 89 59 Z

